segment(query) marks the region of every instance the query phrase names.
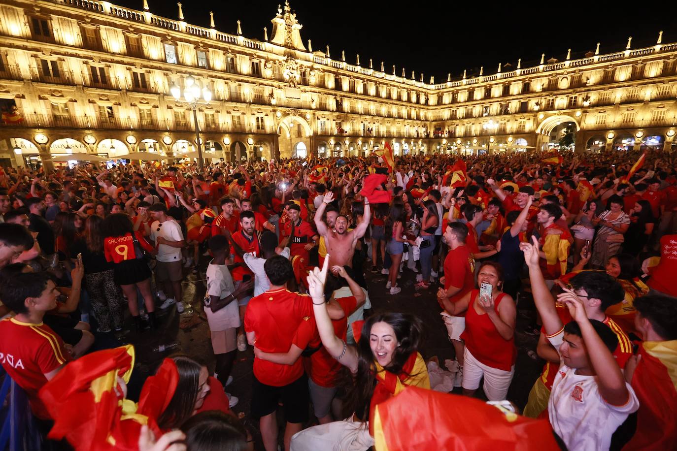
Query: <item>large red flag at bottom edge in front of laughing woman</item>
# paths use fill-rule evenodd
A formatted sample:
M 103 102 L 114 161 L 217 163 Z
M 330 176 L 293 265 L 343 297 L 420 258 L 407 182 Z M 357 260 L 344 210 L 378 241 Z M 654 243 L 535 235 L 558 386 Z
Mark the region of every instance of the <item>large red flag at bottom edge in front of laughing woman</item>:
M 560 449 L 547 421 L 418 387 L 378 404 L 373 423 L 376 451 Z

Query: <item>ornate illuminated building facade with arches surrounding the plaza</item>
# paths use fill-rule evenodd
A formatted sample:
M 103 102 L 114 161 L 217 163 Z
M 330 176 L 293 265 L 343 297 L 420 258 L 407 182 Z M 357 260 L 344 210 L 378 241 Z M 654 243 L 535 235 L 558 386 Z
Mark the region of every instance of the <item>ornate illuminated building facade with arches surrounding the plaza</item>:
M 141 3 L 141 1 L 139 1 Z M 177 158 L 195 149 L 196 105 L 207 158 L 524 149 L 672 149 L 677 44 L 540 64 L 435 84 L 383 62 L 313 51 L 288 3 L 263 40 L 99 0 L 0 5 L 0 164 L 70 152 Z M 403 72 L 403 69 L 402 69 Z M 488 71 L 487 71 L 488 73 Z M 198 91 L 199 93 L 199 91 Z

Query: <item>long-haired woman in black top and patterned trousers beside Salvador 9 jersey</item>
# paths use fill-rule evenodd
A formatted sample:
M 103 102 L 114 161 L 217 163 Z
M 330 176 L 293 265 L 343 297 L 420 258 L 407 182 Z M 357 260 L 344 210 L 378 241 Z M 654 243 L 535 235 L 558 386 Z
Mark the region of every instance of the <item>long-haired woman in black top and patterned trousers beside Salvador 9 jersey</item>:
M 104 237 L 102 235 L 104 220 L 95 214 L 85 220 L 85 231 L 81 239 L 73 243 L 70 254 L 82 255 L 85 266 L 85 289 L 89 294 L 91 308 L 99 324 L 98 331 L 110 332 L 123 329 L 123 294 L 115 283 L 113 264 L 106 261 L 104 254 Z

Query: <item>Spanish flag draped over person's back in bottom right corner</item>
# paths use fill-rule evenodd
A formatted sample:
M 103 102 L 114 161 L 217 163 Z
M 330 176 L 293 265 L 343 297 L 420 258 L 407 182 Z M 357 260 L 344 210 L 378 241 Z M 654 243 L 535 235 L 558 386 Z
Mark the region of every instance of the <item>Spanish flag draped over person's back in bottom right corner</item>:
M 645 341 L 632 389 L 639 400 L 637 429 L 623 451 L 677 448 L 677 340 Z

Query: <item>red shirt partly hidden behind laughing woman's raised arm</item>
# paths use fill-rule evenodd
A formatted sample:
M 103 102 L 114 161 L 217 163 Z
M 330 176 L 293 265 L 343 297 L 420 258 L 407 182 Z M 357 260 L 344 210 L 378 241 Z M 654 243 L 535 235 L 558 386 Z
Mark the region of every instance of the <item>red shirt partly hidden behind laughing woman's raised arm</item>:
M 345 316 L 341 319 L 332 320 L 334 335 L 345 341 L 348 331 L 348 316 L 357 308 L 357 300 L 355 296 L 348 296 L 347 298 L 336 298 L 336 302 L 343 308 Z M 301 349 L 304 349 L 308 343 L 312 343 L 313 335 L 317 335 L 314 318 L 312 323 L 308 321 L 307 324 L 312 328 L 300 327 L 297 339 L 294 339 L 294 344 Z M 310 356 L 310 378 L 320 387 L 336 387 L 336 377 L 339 375 L 339 371 L 341 371 L 339 360 L 333 358 L 324 346 Z

